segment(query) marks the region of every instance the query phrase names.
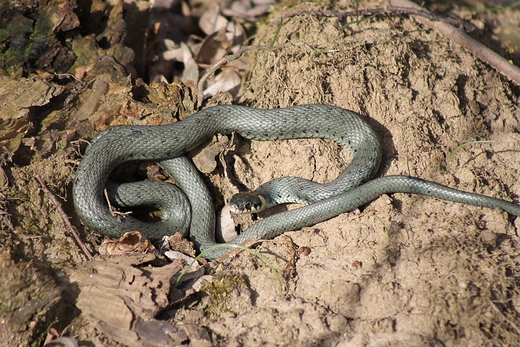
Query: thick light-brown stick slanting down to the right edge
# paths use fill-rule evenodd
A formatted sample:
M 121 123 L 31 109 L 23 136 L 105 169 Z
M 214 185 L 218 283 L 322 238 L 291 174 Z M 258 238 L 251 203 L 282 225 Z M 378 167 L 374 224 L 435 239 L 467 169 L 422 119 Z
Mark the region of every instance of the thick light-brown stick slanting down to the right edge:
M 391 3 L 393 5 L 398 6 L 406 6 L 410 8 L 420 8 L 419 5 L 413 3 L 409 0 L 391 0 Z M 446 36 L 448 39 L 452 40 L 453 42 L 461 45 L 470 53 L 472 53 L 474 56 L 479 58 L 480 60 L 484 61 L 485 63 L 489 64 L 492 68 L 497 70 L 499 73 L 504 75 L 505 77 L 509 78 L 511 81 L 515 82 L 517 85 L 520 85 L 520 68 L 517 66 L 511 64 L 506 59 L 504 59 L 502 56 L 498 55 L 491 49 L 487 48 L 477 40 L 469 37 L 466 35 L 466 33 L 460 29 L 454 28 L 448 23 L 441 23 L 441 22 L 431 22 L 431 21 L 425 21 L 418 19 L 421 23 L 424 25 L 438 30 Z

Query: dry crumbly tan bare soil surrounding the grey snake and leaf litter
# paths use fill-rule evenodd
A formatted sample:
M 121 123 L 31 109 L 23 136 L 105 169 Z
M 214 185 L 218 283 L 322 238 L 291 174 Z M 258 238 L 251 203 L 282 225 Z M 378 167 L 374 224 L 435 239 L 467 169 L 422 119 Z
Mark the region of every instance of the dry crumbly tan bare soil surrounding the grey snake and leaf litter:
M 279 6 L 272 16 L 312 6 Z M 509 12 L 508 18 L 520 18 Z M 378 175 L 416 176 L 520 201 L 518 86 L 414 18 L 377 18 L 343 30 L 334 24 L 335 18 L 304 15 L 281 27 L 260 25 L 256 44 L 270 45 L 273 38 L 274 45 L 290 44 L 276 53 L 253 53 L 237 101 L 260 108 L 323 103 L 351 109 L 366 117 L 383 143 Z M 128 80 L 106 83 L 91 128 L 79 131 L 84 136 L 108 124 L 174 121 L 166 105 L 193 112 L 188 102 L 193 86 L 147 87 L 152 107 L 129 97 Z M 210 103 L 229 101 L 220 96 Z M 63 124 L 86 102 L 50 114 L 55 121 L 48 123 L 61 127 L 52 149 L 41 150 L 45 139 L 37 138 L 30 162 L 3 169 L 2 192 L 13 219 L 12 229 L 2 232 L 0 301 L 10 300 L 13 309 L 33 302 L 26 315 L 9 321 L 13 341 L 37 345 L 42 332 L 58 322 L 71 324 L 70 334 L 85 346 L 146 345 L 118 342 L 75 308 L 81 283 L 63 277 L 81 278 L 70 273 L 83 271 L 85 257 L 32 178 L 39 173 L 70 201 L 77 146 L 57 144 L 66 137 Z M 108 121 L 107 114 L 117 117 Z M 59 121 L 67 115 L 71 118 Z M 457 146 L 478 140 L 492 142 L 452 156 Z M 220 192 L 215 197 L 220 207 L 237 192 L 235 181 L 250 189 L 285 175 L 325 182 L 348 165 L 349 154 L 327 140 L 239 140 L 225 158 L 208 175 Z M 70 202 L 65 205 L 74 216 Z M 99 236 L 82 233 L 95 251 Z M 282 292 L 271 270 L 242 252 L 212 262 L 210 285 L 184 292 L 173 305 L 159 304 L 147 319 L 198 327 L 200 339 L 185 328 L 194 346 L 513 346 L 520 334 L 519 242 L 520 219 L 503 211 L 408 194 L 382 196 L 358 212 L 258 245 L 281 273 Z M 15 296 L 19 288 L 26 289 Z M 183 338 L 177 343 L 188 343 Z

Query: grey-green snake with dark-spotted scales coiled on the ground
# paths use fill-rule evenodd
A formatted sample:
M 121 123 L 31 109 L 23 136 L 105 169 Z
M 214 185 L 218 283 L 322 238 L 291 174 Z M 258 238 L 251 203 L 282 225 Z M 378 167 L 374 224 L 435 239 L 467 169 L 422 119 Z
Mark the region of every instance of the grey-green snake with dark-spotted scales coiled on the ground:
M 215 134 L 240 134 L 250 140 L 328 138 L 344 145 L 351 162 L 333 181 L 316 183 L 298 177 L 266 182 L 253 192 L 239 193 L 230 201 L 232 211 L 258 212 L 277 204 L 304 206 L 261 219 L 229 242 L 213 247 L 215 208 L 211 194 L 186 153 Z M 213 260 L 233 245 L 251 239 L 271 239 L 352 211 L 382 194 L 411 193 L 468 205 L 500 208 L 520 216 L 520 205 L 503 199 L 464 192 L 404 175 L 373 178 L 379 169 L 382 147 L 378 136 L 356 112 L 322 104 L 278 109 L 240 105 L 208 107 L 172 124 L 113 126 L 96 136 L 78 166 L 73 182 L 77 215 L 90 229 L 120 237 L 140 231 L 151 239 L 180 232 L 188 236 L 204 257 Z M 153 160 L 178 187 L 165 182 L 114 183 L 112 171 L 122 163 Z M 114 216 L 112 204 L 148 205 L 163 213 L 160 222 L 145 222 L 131 215 Z

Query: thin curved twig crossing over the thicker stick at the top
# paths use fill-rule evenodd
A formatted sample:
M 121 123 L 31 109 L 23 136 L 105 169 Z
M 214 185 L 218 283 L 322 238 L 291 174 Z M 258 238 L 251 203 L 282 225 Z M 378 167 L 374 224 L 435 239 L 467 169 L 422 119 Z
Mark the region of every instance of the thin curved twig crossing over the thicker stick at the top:
M 278 25 L 280 21 L 283 21 L 286 18 L 292 18 L 301 15 L 312 15 L 316 17 L 338 17 L 338 21 L 345 17 L 353 17 L 353 16 L 367 16 L 367 15 L 389 15 L 389 14 L 412 14 L 416 16 L 421 16 L 428 18 L 432 21 L 440 21 L 446 22 L 452 25 L 456 25 L 458 27 L 464 28 L 465 30 L 472 31 L 475 29 L 475 26 L 462 18 L 453 18 L 441 16 L 435 13 L 431 13 L 421 7 L 411 7 L 411 6 L 388 6 L 385 8 L 367 8 L 357 11 L 297 11 L 291 12 L 284 15 L 280 20 L 274 22 L 272 25 Z

